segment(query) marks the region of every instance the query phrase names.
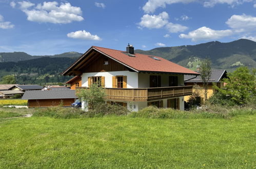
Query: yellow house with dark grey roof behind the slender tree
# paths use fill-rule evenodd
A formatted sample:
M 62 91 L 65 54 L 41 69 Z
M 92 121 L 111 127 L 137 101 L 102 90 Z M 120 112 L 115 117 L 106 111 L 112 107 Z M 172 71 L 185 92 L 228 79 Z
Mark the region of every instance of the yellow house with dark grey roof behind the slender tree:
M 200 67 L 198 67 L 198 72 L 200 73 Z M 203 89 L 203 81 L 201 76 L 191 76 L 191 75 L 185 75 L 184 76 L 184 83 L 186 86 L 193 86 L 193 85 L 198 85 L 202 89 L 200 90 L 201 93 L 201 98 L 204 99 L 204 89 Z M 222 81 L 223 78 L 227 77 L 227 71 L 226 70 L 211 70 L 211 77 L 209 79 L 209 84 L 208 84 L 208 90 L 207 90 L 207 98 L 210 98 L 216 91 L 212 87 L 213 83 L 219 87 L 223 88 L 225 86 L 224 82 Z M 184 100 L 186 102 L 189 101 L 189 96 L 185 96 Z

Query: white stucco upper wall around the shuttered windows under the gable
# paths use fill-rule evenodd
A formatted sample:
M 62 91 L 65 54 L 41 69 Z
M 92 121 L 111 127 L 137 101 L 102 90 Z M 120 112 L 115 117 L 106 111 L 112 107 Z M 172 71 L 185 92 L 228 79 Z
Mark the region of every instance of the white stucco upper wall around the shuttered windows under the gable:
M 138 88 L 138 73 L 129 71 L 83 73 L 82 87 L 88 87 L 88 77 L 104 76 L 105 88 L 112 88 L 112 76 L 127 76 L 127 88 Z

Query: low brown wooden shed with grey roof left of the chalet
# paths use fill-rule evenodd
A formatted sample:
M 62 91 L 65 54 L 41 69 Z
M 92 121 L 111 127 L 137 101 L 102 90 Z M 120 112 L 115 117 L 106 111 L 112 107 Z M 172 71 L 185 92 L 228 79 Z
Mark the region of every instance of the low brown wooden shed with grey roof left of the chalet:
M 22 97 L 28 100 L 28 107 L 70 106 L 76 99 L 75 90 L 32 90 Z

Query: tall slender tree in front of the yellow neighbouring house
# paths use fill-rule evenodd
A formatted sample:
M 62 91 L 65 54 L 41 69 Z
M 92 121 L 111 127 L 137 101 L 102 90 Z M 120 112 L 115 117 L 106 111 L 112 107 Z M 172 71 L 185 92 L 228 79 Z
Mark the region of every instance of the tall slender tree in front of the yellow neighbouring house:
M 205 60 L 202 61 L 200 74 L 203 81 L 203 88 L 204 88 L 204 95 L 205 95 L 205 102 L 206 102 L 209 79 L 211 77 L 211 60 L 209 58 L 206 58 Z

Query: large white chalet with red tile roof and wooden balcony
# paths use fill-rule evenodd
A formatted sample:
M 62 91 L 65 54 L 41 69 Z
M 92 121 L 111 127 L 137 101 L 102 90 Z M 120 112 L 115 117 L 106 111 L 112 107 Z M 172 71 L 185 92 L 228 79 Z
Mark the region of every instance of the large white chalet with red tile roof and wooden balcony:
M 82 87 L 97 83 L 106 89 L 106 101 L 138 111 L 148 105 L 184 110 L 184 75 L 200 75 L 162 57 L 92 46 L 62 75 L 81 76 Z M 84 107 L 84 104 L 83 104 Z

